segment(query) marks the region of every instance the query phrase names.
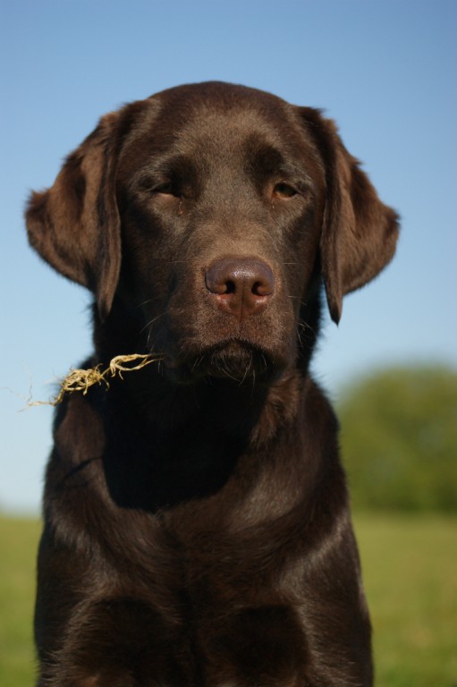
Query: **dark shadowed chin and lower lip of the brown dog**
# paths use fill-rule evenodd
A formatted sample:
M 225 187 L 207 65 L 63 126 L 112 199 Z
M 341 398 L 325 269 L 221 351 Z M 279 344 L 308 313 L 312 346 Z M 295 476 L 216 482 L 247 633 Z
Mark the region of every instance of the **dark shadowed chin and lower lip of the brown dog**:
M 273 380 L 283 369 L 270 353 L 242 341 L 230 340 L 182 360 L 165 359 L 165 374 L 174 382 L 191 384 L 203 378 L 254 384 Z

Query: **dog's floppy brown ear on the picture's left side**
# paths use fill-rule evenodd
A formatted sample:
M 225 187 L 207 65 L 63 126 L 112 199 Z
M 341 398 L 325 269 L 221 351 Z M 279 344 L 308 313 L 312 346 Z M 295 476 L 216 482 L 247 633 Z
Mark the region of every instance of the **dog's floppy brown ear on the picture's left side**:
M 106 318 L 121 266 L 115 199 L 117 114 L 107 114 L 66 160 L 54 185 L 33 192 L 26 210 L 30 244 L 63 274 L 96 294 Z

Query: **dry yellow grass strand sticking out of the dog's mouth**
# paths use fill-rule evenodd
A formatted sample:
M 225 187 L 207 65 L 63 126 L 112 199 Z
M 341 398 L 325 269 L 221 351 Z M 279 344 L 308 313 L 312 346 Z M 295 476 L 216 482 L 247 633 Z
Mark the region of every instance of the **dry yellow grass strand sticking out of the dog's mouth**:
M 54 399 L 51 401 L 34 401 L 27 405 L 55 406 L 62 403 L 65 394 L 72 394 L 75 391 L 80 391 L 85 395 L 88 393 L 89 387 L 94 386 L 94 384 L 105 384 L 106 388 L 109 388 L 109 378 L 118 375 L 123 379 L 123 372 L 133 372 L 134 370 L 145 368 L 151 362 L 157 362 L 158 360 L 163 360 L 163 356 L 153 355 L 151 353 L 146 353 L 144 355 L 141 353 L 131 353 L 130 355 L 114 356 L 106 369 L 102 369 L 103 366 L 101 363 L 95 368 L 71 369 L 68 375 L 60 383 L 60 391 Z M 132 362 L 137 362 L 137 364 L 129 364 Z

